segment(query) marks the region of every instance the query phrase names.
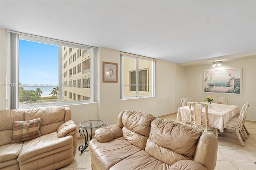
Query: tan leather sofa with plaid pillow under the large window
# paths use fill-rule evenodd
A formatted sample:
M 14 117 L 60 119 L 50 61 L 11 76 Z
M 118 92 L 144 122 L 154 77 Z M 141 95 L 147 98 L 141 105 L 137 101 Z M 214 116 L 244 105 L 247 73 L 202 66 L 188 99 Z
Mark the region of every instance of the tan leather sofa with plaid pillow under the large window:
M 38 128 L 39 134 L 34 133 L 33 129 L 38 132 Z M 27 134 L 19 136 L 21 131 Z M 36 170 L 66 166 L 76 154 L 76 132 L 68 107 L 0 111 L 0 169 Z

